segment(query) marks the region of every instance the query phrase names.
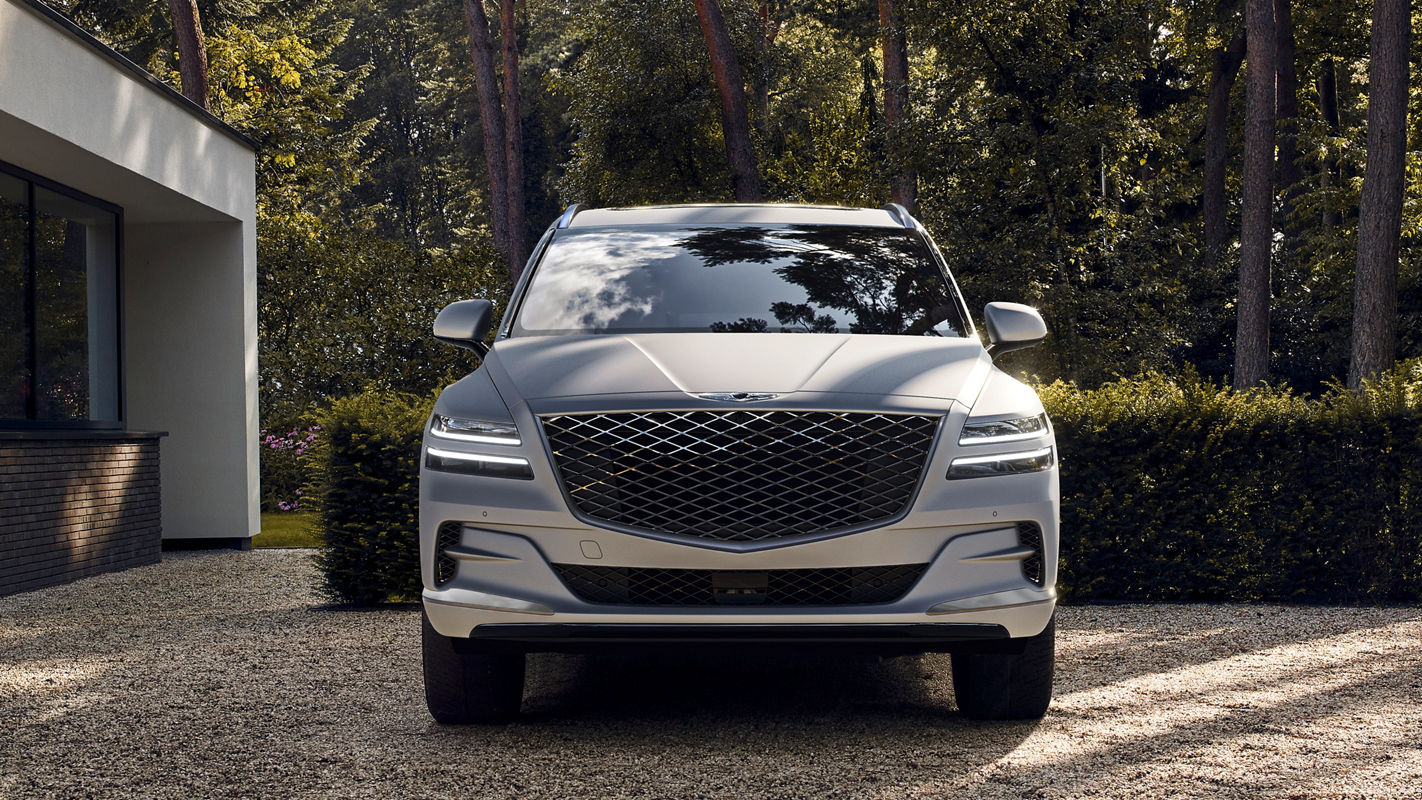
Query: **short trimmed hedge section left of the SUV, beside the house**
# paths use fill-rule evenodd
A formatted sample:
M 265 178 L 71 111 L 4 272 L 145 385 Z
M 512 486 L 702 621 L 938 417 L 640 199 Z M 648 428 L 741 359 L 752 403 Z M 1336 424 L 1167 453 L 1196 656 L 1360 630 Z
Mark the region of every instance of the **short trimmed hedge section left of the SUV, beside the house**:
M 434 396 L 365 391 L 321 416 L 317 567 L 340 602 L 419 597 L 419 436 Z

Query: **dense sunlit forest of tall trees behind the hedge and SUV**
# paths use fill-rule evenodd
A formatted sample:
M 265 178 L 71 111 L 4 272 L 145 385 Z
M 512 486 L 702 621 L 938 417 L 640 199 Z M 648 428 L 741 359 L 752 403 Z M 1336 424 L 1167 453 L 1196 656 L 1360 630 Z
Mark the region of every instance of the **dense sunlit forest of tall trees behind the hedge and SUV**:
M 720 55 L 698 4 L 720 11 Z M 57 6 L 189 82 L 168 1 Z M 1042 310 L 1048 344 L 1004 361 L 1041 379 L 1095 385 L 1152 368 L 1229 379 L 1243 341 L 1254 355 L 1243 382 L 1268 375 L 1313 392 L 1348 375 L 1354 341 L 1384 342 L 1368 345 L 1359 374 L 1422 354 L 1422 141 L 1399 122 L 1422 102 L 1406 68 L 1413 43 L 1396 40 L 1406 3 L 196 7 L 212 111 L 260 146 L 272 418 L 365 384 L 434 388 L 468 364 L 421 350 L 427 317 L 445 298 L 502 300 L 509 237 L 532 244 L 573 202 L 731 200 L 748 163 L 769 202 L 873 207 L 912 183 L 973 313 L 990 300 Z M 466 11 L 483 21 L 478 58 Z M 1264 16 L 1274 33 L 1246 26 Z M 718 80 L 732 61 L 738 75 Z M 741 166 L 727 149 L 727 92 L 741 95 Z M 481 94 L 503 99 L 481 114 Z M 1276 131 L 1277 149 L 1258 144 Z M 508 189 L 510 159 L 522 200 Z M 1395 287 L 1395 306 L 1374 287 Z M 869 314 L 784 303 L 720 323 L 815 331 Z M 1355 320 L 1392 333 L 1355 337 Z

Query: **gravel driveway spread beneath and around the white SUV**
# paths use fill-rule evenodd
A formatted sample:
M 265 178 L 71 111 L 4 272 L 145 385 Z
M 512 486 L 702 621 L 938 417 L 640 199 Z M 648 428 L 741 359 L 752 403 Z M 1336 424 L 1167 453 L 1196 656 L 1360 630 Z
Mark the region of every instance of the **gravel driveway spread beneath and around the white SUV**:
M 523 716 L 425 713 L 418 611 L 309 551 L 0 598 L 0 797 L 1422 797 L 1422 608 L 1062 608 L 1047 719 L 947 656 L 539 655 Z

